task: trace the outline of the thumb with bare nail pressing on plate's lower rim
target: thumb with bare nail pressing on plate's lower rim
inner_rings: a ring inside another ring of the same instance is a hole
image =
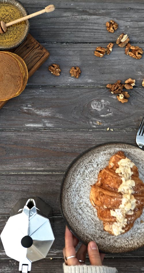
[[[102,266],[101,257],[99,255],[98,247],[95,242],[88,243],[88,256],[90,263],[93,266]]]

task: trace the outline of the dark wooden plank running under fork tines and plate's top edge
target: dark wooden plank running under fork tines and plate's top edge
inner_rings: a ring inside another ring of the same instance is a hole
[[[86,149],[100,143],[135,144],[136,131],[8,130],[1,131],[0,172],[63,172]]]

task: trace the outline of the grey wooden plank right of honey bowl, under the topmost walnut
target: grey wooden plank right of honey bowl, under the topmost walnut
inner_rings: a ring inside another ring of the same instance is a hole
[[[137,9],[137,3],[126,5],[114,2],[107,7],[100,9],[99,4],[94,2],[86,7],[79,2],[78,6],[71,3],[71,8],[67,8],[68,1],[64,1],[65,8],[58,8],[50,14],[44,14],[31,19],[31,34],[41,42],[114,42],[121,33],[127,33],[133,43],[144,41],[143,33],[143,9],[144,3]],[[46,2],[45,2],[46,3]],[[62,3],[62,1],[61,1]],[[34,2],[35,4],[35,2]],[[31,5],[31,4],[29,4]],[[81,7],[80,7],[81,5]],[[121,5],[121,6],[120,6]],[[39,5],[43,8],[44,5]],[[100,5],[101,6],[101,5]],[[27,6],[28,7],[28,6]],[[29,13],[36,12],[40,7],[28,8]],[[118,8],[119,7],[119,8]],[[108,9],[107,9],[108,8]],[[106,29],[106,22],[115,20],[119,28],[115,33],[109,33]]]

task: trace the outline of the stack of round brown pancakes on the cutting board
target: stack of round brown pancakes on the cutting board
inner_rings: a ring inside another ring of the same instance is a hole
[[[0,101],[6,101],[21,94],[28,80],[24,60],[11,52],[0,51]]]

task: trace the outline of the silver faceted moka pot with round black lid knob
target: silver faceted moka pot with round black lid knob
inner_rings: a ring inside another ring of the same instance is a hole
[[[31,263],[43,259],[54,242],[48,219],[52,209],[40,198],[21,199],[10,212],[1,240],[7,256],[19,261],[19,271],[31,271]],[[25,205],[24,205],[25,204]]]

